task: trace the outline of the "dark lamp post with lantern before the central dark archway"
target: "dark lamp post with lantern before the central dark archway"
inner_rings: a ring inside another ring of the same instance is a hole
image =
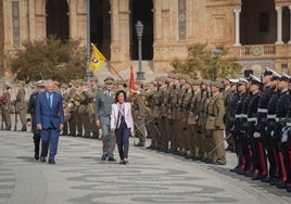
[[[137,80],[144,80],[144,72],[142,72],[142,50],[141,50],[141,39],[142,39],[142,33],[143,33],[143,25],[140,21],[136,24],[136,31],[138,37],[138,72],[137,72]]]

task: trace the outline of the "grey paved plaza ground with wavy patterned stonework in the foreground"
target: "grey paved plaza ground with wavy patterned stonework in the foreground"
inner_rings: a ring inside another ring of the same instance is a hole
[[[34,160],[30,132],[0,131],[0,203],[291,203],[291,193],[230,173],[233,153],[213,166],[132,143],[121,165],[101,160],[101,140],[62,136],[49,165]]]

